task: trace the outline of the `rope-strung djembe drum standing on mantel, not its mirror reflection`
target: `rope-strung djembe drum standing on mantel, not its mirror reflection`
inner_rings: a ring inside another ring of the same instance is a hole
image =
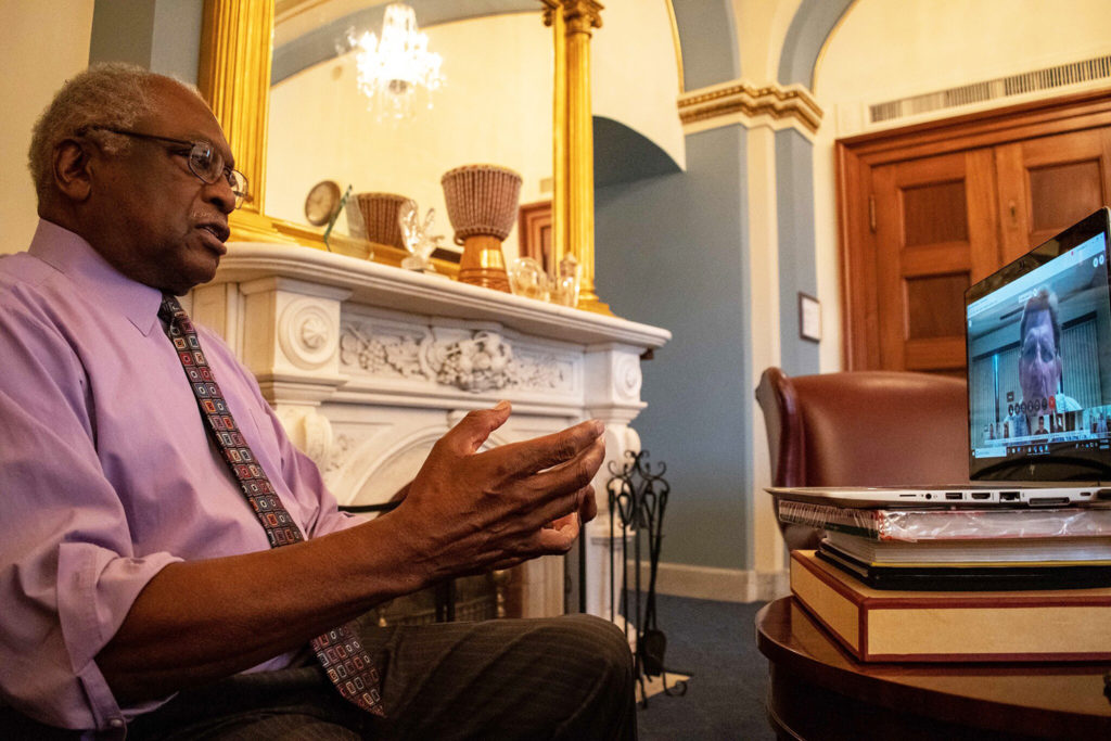
[[[440,179],[456,244],[459,282],[510,292],[501,243],[517,221],[521,176],[497,164],[464,164]]]

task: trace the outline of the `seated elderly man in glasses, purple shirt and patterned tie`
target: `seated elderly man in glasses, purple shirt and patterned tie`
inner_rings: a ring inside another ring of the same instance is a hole
[[[635,737],[602,620],[358,621],[565,552],[595,513],[599,422],[479,453],[510,408],[473,411],[394,511],[340,514],[174,298],[212,278],[247,196],[204,101],[92,68],[30,163],[41,220],[0,260],[0,737]]]

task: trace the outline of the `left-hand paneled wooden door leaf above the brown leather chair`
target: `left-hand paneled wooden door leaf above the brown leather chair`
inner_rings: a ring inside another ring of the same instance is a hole
[[[991,149],[877,167],[880,367],[958,372],[964,290],[999,264]]]

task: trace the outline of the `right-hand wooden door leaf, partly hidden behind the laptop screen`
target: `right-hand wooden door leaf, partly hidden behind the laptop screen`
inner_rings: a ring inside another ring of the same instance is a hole
[[[995,147],[1002,263],[1111,202],[1111,130]]]

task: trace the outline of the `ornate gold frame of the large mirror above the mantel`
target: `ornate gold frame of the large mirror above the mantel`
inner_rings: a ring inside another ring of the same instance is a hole
[[[601,26],[597,0],[538,0],[554,44],[552,246],[580,264],[579,308],[610,313],[594,292],[593,137],[590,38]],[[236,241],[287,242],[326,249],[320,230],[266,212],[266,153],[273,44],[273,0],[206,0],[198,87],[251,183],[252,200],[232,214]],[[336,251],[367,254],[367,244],[337,236]],[[374,260],[400,264],[404,252],[374,246]],[[450,263],[438,266],[452,274]]]

